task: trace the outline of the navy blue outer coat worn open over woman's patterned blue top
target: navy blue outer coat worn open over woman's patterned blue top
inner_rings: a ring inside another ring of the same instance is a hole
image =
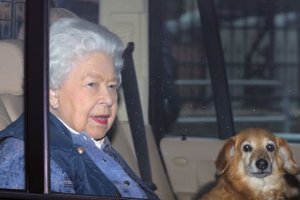
[[[0,141],[14,137],[24,140],[24,116],[10,124],[4,131],[0,132]],[[77,151],[80,146],[73,143],[71,133],[53,114],[49,114],[49,148],[51,160],[70,177],[73,177],[75,194],[86,194],[95,196],[120,196],[120,192],[104,173],[99,169],[94,161],[85,153]],[[131,177],[149,199],[159,199],[158,196],[139,179],[136,174],[126,164],[121,155],[111,146],[104,148],[106,154],[109,154],[126,174]]]

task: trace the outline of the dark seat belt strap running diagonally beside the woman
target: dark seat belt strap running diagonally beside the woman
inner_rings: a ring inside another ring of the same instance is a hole
[[[136,80],[136,71],[134,69],[134,59],[132,56],[133,51],[134,43],[129,42],[123,54],[124,69],[121,72],[122,87],[124,91],[126,111],[129,118],[131,136],[134,141],[134,149],[136,151],[136,159],[138,162],[141,179],[152,190],[156,190],[156,185],[152,182],[151,176],[144,118],[143,112],[141,110],[139,88]]]

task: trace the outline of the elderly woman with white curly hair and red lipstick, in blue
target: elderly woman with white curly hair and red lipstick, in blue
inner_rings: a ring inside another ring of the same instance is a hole
[[[121,40],[79,18],[50,28],[49,144],[51,191],[158,199],[111,147],[121,84]],[[24,189],[21,116],[0,132],[0,188]]]

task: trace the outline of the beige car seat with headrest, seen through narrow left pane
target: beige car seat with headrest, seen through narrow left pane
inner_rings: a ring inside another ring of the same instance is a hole
[[[24,110],[24,41],[0,40],[0,130]]]

